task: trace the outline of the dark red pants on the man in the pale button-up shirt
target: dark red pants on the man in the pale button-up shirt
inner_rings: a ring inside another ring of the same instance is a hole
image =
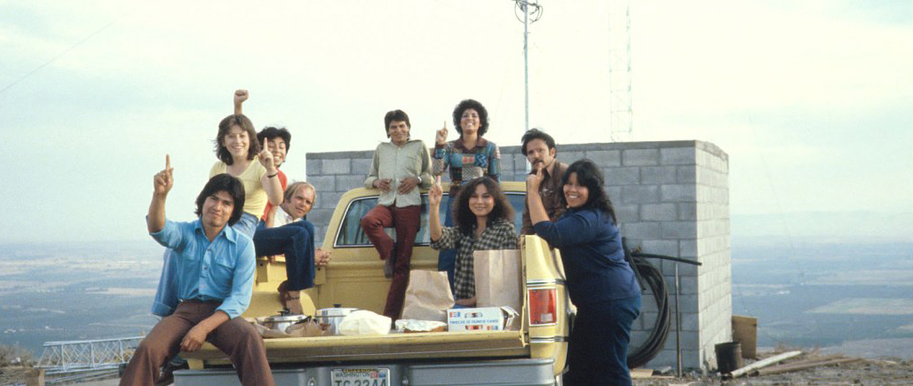
[[[381,260],[394,254],[394,240],[383,232],[383,228],[392,226],[396,230],[396,265],[393,282],[387,292],[387,305],[383,308],[383,316],[394,320],[403,312],[405,287],[409,285],[409,262],[412,260],[412,247],[415,245],[421,214],[422,208],[419,205],[402,208],[377,205],[362,217],[364,233],[377,248]]]

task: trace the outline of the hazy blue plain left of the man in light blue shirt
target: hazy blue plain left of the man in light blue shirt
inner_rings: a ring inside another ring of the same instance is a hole
[[[45,341],[144,335],[162,251],[152,240],[2,245],[0,343],[37,359]]]

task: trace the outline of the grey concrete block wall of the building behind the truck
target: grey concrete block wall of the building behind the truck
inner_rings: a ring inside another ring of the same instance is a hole
[[[524,181],[526,157],[519,146],[501,146],[503,181]],[[362,186],[373,151],[307,154],[308,181],[318,190],[308,218],[322,242],[342,193]],[[589,158],[600,165],[628,247],[696,260],[679,265],[681,348],[688,369],[715,369],[713,346],[731,339],[729,256],[729,156],[702,141],[559,144],[558,159]],[[675,309],[675,264],[651,259],[661,269]],[[656,320],[656,302],[643,298],[632,347],[644,342]],[[675,320],[666,345],[648,367],[676,365]]]

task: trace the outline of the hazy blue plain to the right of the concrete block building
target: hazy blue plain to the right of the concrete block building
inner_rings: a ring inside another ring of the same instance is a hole
[[[733,242],[732,256],[732,313],[758,318],[760,346],[913,338],[913,243]]]

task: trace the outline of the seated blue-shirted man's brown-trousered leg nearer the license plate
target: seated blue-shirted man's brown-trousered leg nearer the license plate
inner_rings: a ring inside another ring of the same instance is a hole
[[[273,385],[267,350],[257,329],[244,318],[233,318],[215,328],[206,340],[225,352],[243,385]]]

